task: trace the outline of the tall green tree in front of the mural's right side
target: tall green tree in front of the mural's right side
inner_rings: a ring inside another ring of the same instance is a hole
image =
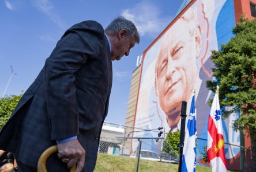
[[[250,134],[253,171],[256,171],[256,19],[249,21],[241,17],[233,32],[235,36],[220,51],[213,51],[216,80],[207,81],[206,85],[212,91],[219,85],[220,105],[232,107],[224,110],[224,117],[239,112],[233,127]]]

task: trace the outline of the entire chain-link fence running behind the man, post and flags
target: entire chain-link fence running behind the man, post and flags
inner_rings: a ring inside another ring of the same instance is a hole
[[[133,137],[157,137],[161,130],[146,130],[143,128],[127,127],[118,124],[105,122],[101,130],[99,153],[119,155],[125,157],[136,158],[139,141],[138,139],[130,139]],[[163,133],[161,138],[166,138],[167,133]],[[122,138],[129,137],[129,138]],[[157,161],[164,163],[179,163],[179,150],[173,148],[168,142],[161,139],[140,139],[141,151],[140,159],[149,161]],[[207,140],[198,138],[197,142],[201,142],[202,147],[197,146],[197,164],[208,166],[209,163],[204,160],[206,157]],[[250,170],[251,166],[251,148],[238,146],[235,144],[225,143],[225,153],[229,169]],[[243,151],[244,154],[241,154]],[[241,157],[242,156],[242,161]],[[150,171],[150,170],[148,170]],[[169,169],[168,171],[174,171]]]

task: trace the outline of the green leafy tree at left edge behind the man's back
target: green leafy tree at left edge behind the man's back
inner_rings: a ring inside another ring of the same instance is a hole
[[[21,99],[21,95],[7,96],[0,99],[0,130],[12,115],[14,108],[16,107],[18,101]]]

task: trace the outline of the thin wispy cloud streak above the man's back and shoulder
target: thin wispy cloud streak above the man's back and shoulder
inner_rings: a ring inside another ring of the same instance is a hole
[[[48,0],[32,0],[33,6],[35,6],[39,11],[48,15],[56,24],[59,25],[61,29],[66,29],[65,22],[57,14],[54,13],[54,6]]]

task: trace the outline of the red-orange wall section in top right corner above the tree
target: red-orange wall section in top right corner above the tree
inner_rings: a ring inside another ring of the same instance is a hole
[[[236,23],[239,22],[240,16],[242,14],[244,14],[246,18],[254,18],[251,16],[250,2],[256,4],[256,0],[234,0]]]

